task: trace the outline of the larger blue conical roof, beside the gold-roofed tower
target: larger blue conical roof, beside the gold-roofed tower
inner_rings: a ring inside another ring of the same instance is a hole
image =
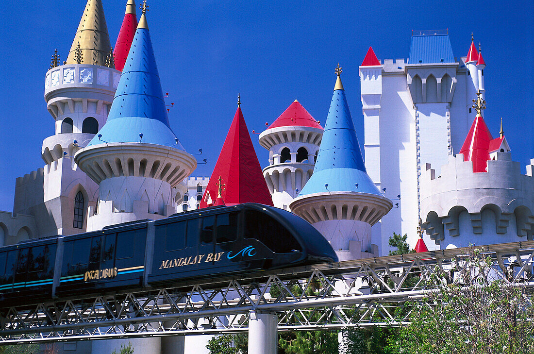
[[[183,150],[179,143],[176,144],[176,136],[169,127],[158,67],[144,17],[143,14],[133,37],[107,122],[89,146],[142,142]],[[143,134],[142,139],[140,133]],[[100,139],[98,135],[101,135]]]

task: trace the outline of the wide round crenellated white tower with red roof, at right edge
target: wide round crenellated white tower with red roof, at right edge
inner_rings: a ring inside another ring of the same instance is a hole
[[[532,240],[534,233],[534,159],[522,175],[502,125],[492,138],[481,92],[477,96],[462,151],[449,156],[438,178],[430,164],[422,176],[422,228],[440,249]]]

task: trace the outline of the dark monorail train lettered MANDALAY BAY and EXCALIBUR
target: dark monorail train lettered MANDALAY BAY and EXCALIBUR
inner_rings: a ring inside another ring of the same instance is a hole
[[[0,248],[0,308],[186,279],[337,262],[313,226],[245,203]]]

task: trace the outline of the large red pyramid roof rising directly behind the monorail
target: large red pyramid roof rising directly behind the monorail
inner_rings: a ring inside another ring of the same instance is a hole
[[[225,184],[221,194],[226,205],[254,202],[273,206],[269,188],[265,183],[247,124],[239,107],[202,196],[200,208],[208,206],[208,193],[218,194],[219,176]]]

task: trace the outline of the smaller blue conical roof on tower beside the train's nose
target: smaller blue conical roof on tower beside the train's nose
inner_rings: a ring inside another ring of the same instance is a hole
[[[328,184],[328,187],[325,187]],[[356,187],[356,184],[358,186]],[[338,76],[313,174],[301,195],[324,192],[381,194],[367,176],[362,151]]]

